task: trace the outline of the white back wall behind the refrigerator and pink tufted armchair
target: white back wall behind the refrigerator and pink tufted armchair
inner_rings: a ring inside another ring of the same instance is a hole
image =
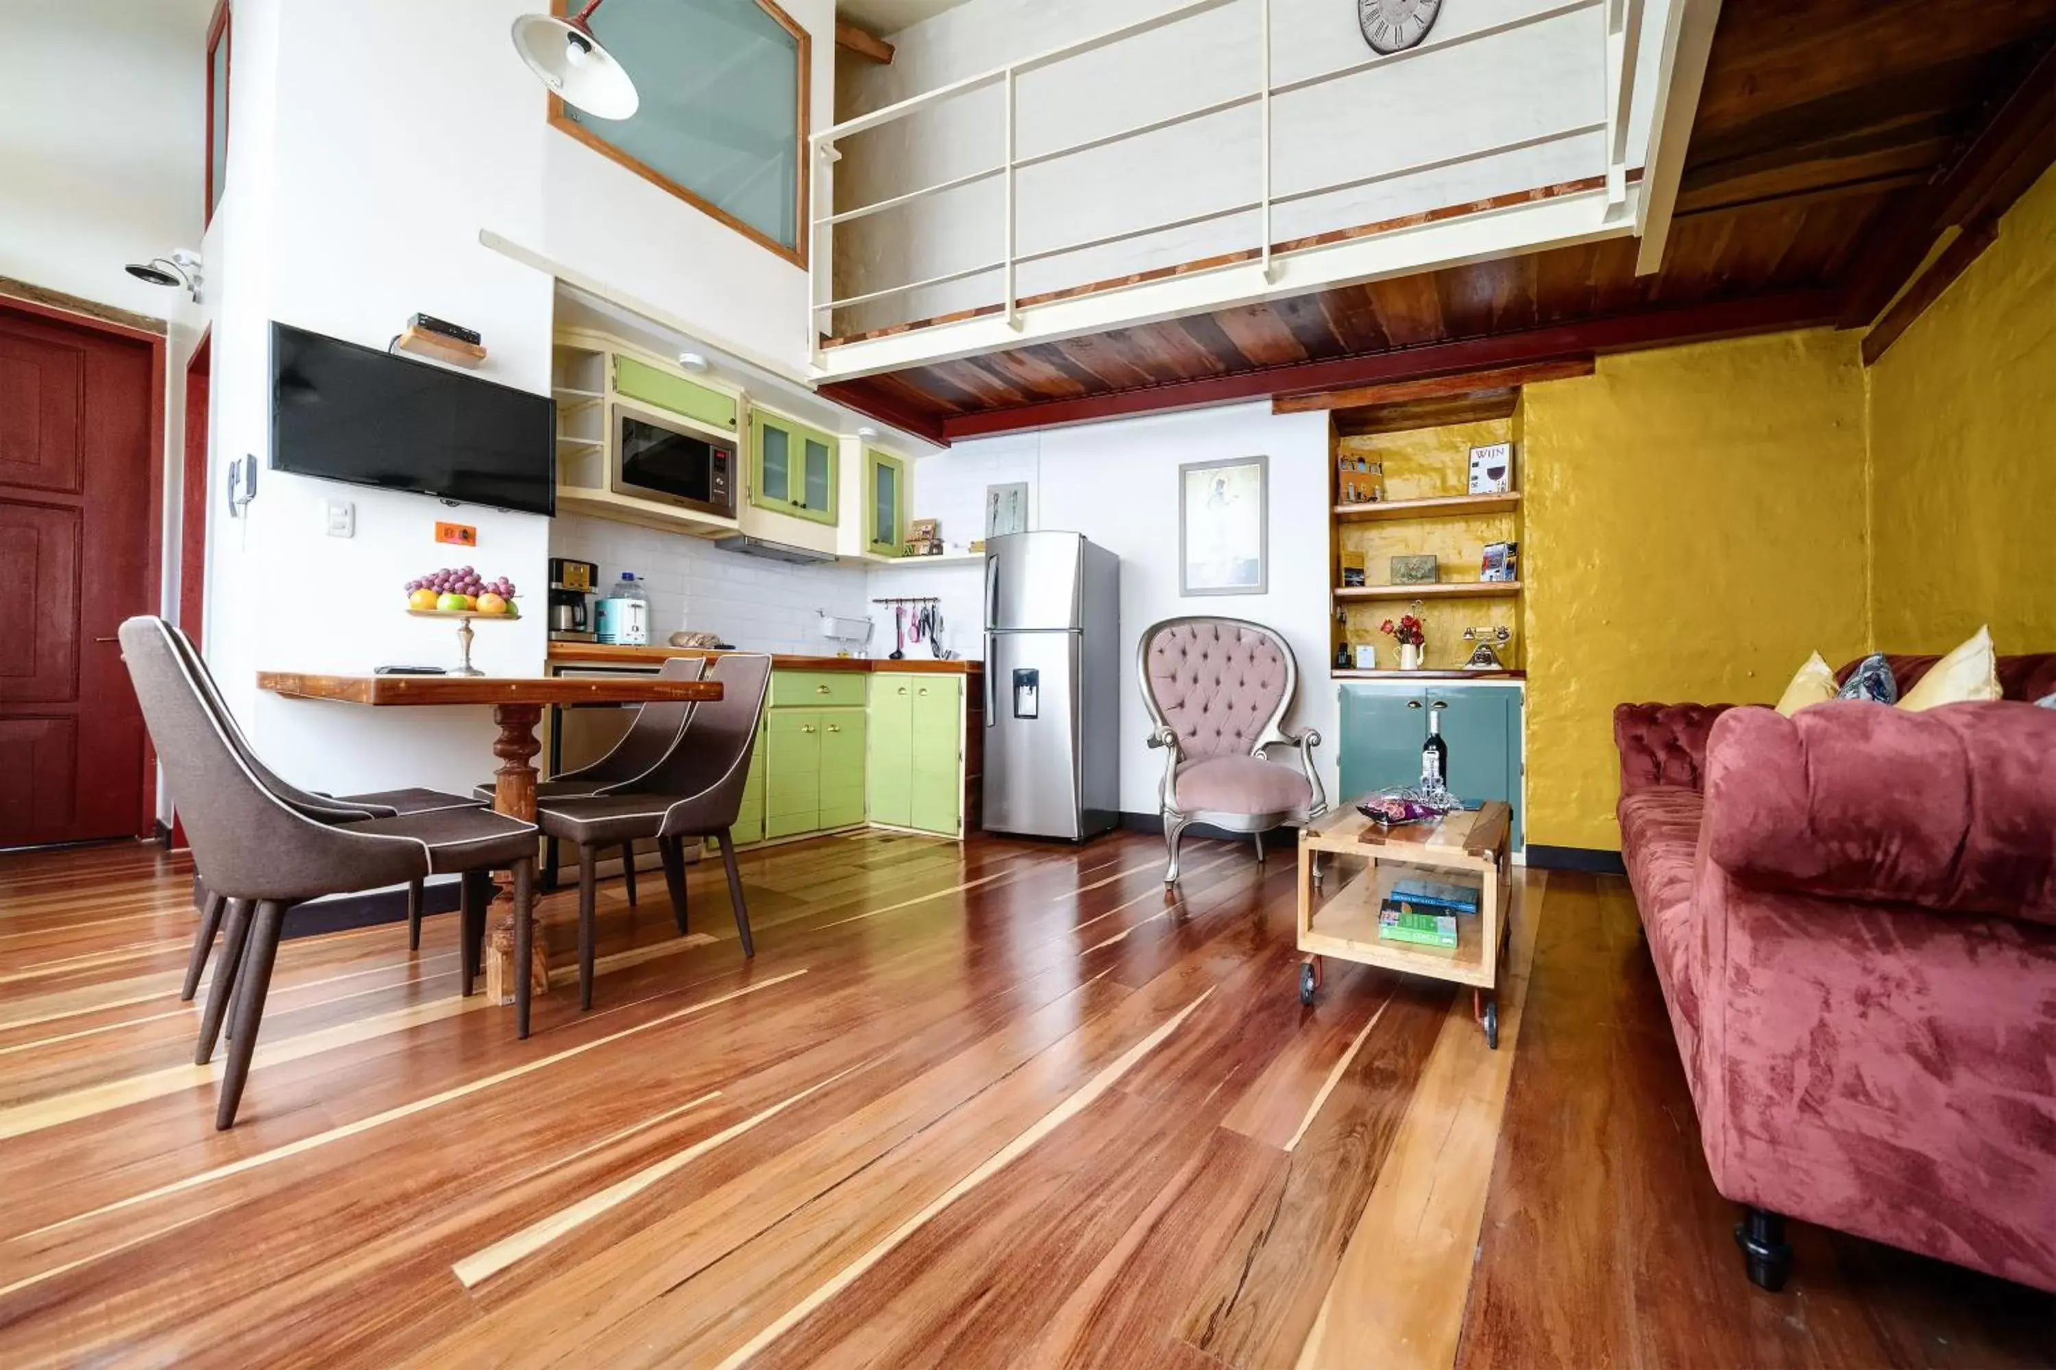
[[[1178,466],[1238,456],[1271,458],[1269,589],[1180,596]],[[1121,807],[1155,811],[1164,758],[1143,744],[1149,715],[1133,661],[1143,629],[1178,614],[1252,618],[1285,635],[1299,659],[1287,723],[1326,737],[1316,758],[1332,797],[1341,733],[1328,682],[1328,417],[1273,415],[1262,403],[966,442],[917,462],[915,516],[940,518],[946,540],[983,536],[985,487],[1022,479],[1034,483],[1034,528],[1081,532],[1121,557]],[[870,592],[940,596],[952,624],[946,645],[983,655],[979,567],[880,569]],[[890,618],[878,641],[874,655],[890,651]]]

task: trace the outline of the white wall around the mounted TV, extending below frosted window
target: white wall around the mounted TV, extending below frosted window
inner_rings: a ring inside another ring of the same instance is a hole
[[[236,0],[230,173],[208,232],[218,290],[204,310],[216,483],[234,456],[269,460],[273,318],[374,347],[415,310],[454,318],[485,339],[481,376],[545,392],[553,281],[485,249],[487,228],[709,333],[794,366],[806,357],[804,271],[545,123],[543,88],[508,43],[508,25],[533,8]],[[816,35],[814,109],[827,119],[833,0],[785,8]],[[329,499],[356,505],[354,538],[325,536]],[[477,550],[436,544],[438,518],[477,526]],[[477,629],[477,665],[539,672],[549,540],[539,516],[263,470],[249,518],[216,522],[208,657],[290,778],[469,789],[493,764],[487,711],[282,700],[255,690],[255,672],[454,663],[448,624],[401,612],[407,579],[454,563],[524,592],[520,622]]]

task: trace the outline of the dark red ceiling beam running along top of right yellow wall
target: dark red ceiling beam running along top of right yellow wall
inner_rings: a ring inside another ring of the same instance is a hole
[[[1998,220],[2056,162],[2056,43],[1986,119],[1963,154],[1896,222],[1879,224],[1848,275],[1840,325],[1877,318],[1949,228]]]

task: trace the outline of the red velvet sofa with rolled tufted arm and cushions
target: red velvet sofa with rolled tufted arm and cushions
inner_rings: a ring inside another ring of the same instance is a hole
[[[2000,686],[1614,711],[1622,859],[1764,1288],[1793,1216],[2056,1290],[2056,709],[2011,702],[2056,653]]]

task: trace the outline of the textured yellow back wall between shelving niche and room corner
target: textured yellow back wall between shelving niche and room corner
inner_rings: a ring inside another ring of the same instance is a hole
[[[1857,335],[1600,357],[1519,419],[1528,840],[1618,848],[1616,702],[1774,702],[1865,647]]]

